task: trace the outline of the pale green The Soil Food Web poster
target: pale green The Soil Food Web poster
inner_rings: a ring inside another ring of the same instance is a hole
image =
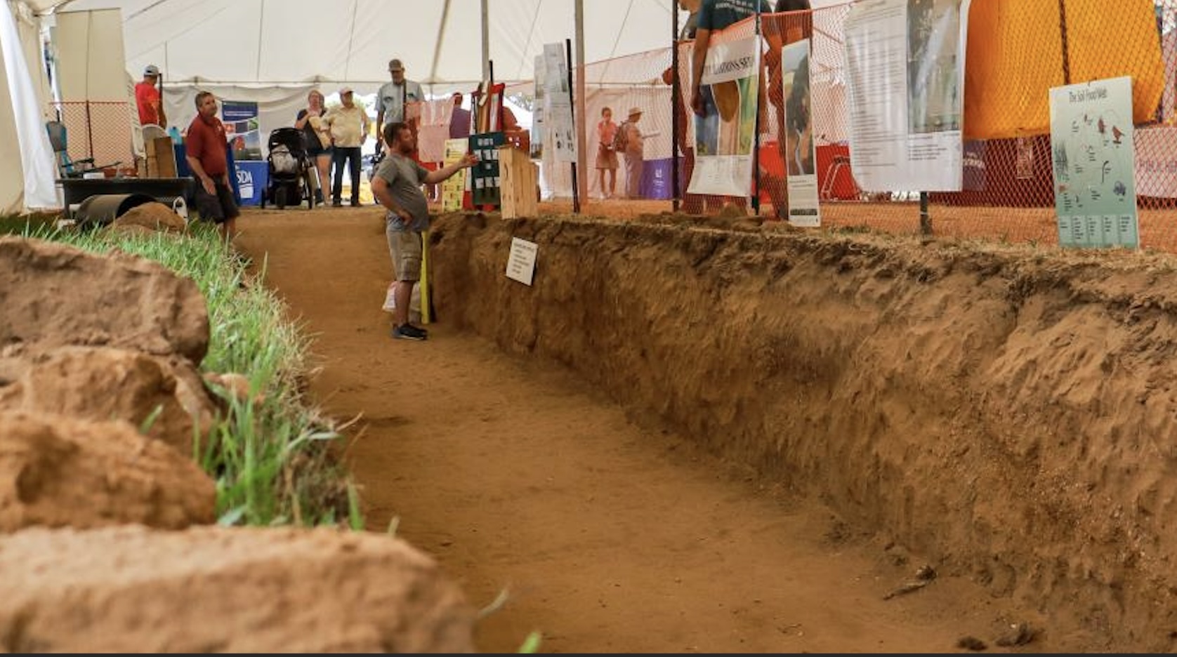
[[[1131,78],[1050,89],[1060,246],[1141,246],[1132,138]]]

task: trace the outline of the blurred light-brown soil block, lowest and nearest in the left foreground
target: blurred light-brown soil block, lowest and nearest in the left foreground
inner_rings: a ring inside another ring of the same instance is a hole
[[[11,652],[471,652],[474,611],[387,536],[193,527],[0,538]]]

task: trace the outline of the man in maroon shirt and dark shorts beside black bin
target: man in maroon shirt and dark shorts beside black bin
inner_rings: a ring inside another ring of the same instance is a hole
[[[199,182],[197,212],[201,219],[217,223],[221,239],[228,241],[237,234],[237,218],[241,211],[233,200],[225,126],[217,118],[217,97],[211,92],[197,94],[197,118],[188,126],[184,145],[188,166]]]

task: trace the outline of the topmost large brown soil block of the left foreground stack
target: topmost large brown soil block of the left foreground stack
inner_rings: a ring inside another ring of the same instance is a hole
[[[208,351],[197,285],[134,256],[0,237],[0,347],[117,346],[194,364]]]

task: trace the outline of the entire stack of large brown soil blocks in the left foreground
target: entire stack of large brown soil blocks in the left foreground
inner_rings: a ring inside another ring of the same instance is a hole
[[[0,651],[471,650],[460,592],[400,542],[141,526],[217,518],[192,460],[219,409],[191,279],[0,238]]]

